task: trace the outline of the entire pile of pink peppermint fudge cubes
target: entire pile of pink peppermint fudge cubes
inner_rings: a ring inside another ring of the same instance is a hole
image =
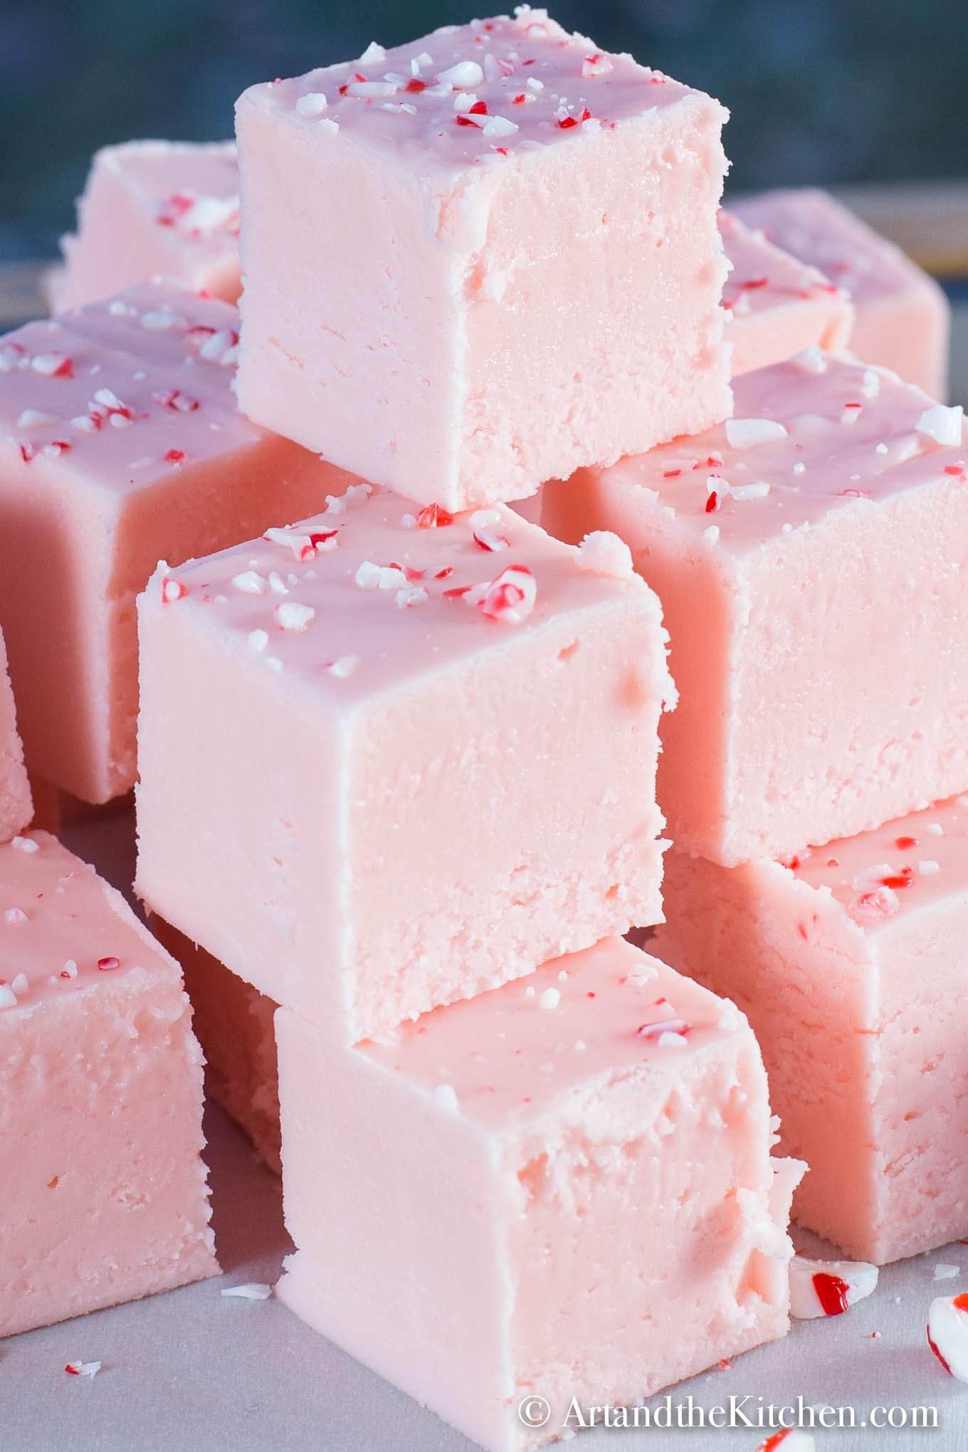
[[[726,119],[522,7],[96,158],[0,340],[0,621],[155,937],[15,836],[7,693],[0,1333],[216,1269],[176,960],[279,1297],[486,1448],[782,1336],[794,1192],[968,1233],[946,312],[823,195],[720,211]]]

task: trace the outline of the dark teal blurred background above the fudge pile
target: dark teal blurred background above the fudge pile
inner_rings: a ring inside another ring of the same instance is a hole
[[[0,261],[54,254],[97,147],[225,138],[253,81],[479,13],[467,0],[0,0]],[[968,171],[968,0],[560,0],[551,13],[718,96],[737,189]]]

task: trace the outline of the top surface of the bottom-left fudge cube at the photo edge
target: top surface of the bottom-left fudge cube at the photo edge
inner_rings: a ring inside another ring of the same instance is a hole
[[[0,1018],[181,970],[120,893],[48,832],[0,847]]]

